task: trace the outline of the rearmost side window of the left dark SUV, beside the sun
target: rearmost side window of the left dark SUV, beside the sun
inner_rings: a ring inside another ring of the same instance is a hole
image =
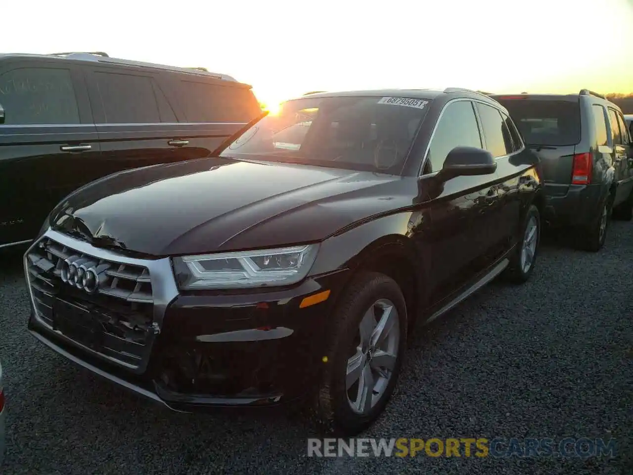
[[[189,122],[250,122],[261,113],[246,87],[183,80],[180,99]]]

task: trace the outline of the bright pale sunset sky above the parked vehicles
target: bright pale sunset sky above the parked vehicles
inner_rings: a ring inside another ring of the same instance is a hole
[[[35,0],[1,10],[4,53],[204,66],[268,104],[382,87],[633,92],[633,0]]]

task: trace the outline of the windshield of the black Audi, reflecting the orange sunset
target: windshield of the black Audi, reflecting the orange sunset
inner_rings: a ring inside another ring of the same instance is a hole
[[[398,174],[427,104],[406,98],[296,99],[221,155]]]

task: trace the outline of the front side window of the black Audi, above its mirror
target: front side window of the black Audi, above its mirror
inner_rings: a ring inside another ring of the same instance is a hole
[[[481,137],[472,102],[456,101],[446,106],[432,138],[424,173],[439,172],[455,147],[481,148]]]

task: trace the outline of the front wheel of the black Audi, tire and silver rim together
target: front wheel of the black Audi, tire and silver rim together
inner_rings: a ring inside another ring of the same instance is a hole
[[[393,279],[366,272],[332,318],[318,409],[329,431],[351,436],[377,419],[393,393],[406,346],[406,303]]]

